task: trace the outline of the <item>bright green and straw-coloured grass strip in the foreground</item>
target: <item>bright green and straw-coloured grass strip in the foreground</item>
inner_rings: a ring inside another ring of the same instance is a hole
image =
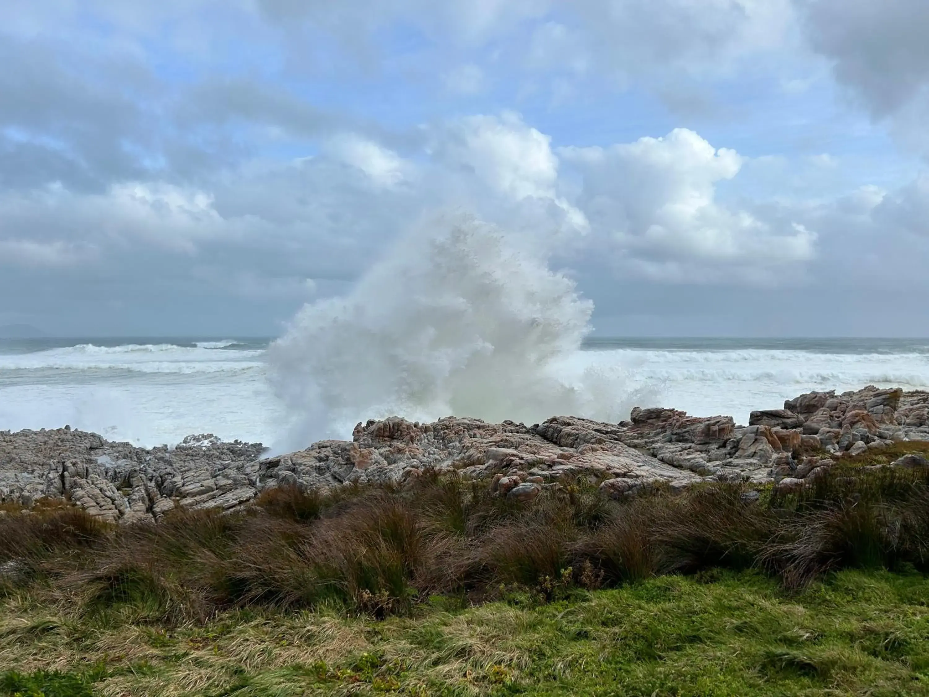
[[[383,621],[319,608],[112,625],[52,610],[6,599],[0,693],[929,694],[929,580],[917,572],[837,572],[788,594],[757,572],[713,570],[553,602],[432,598]]]

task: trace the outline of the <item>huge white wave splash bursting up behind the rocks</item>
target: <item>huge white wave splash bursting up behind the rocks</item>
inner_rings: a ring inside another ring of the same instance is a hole
[[[623,418],[622,376],[572,365],[593,309],[543,250],[441,217],[393,243],[347,296],[307,304],[270,346],[268,377],[294,414],[288,444],[391,414]]]

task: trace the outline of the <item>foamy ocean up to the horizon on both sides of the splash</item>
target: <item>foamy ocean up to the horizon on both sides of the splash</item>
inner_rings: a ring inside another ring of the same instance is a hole
[[[0,339],[0,429],[68,424],[143,446],[213,433],[273,446],[291,414],[268,382],[269,342]],[[641,406],[729,414],[739,423],[752,409],[779,408],[812,389],[929,388],[929,339],[596,337],[562,362],[577,373],[622,373]],[[350,424],[342,428],[350,437]]]

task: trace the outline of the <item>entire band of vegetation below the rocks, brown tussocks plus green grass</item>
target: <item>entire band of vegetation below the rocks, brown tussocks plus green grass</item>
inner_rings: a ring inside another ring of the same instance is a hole
[[[0,516],[0,694],[929,695],[929,471]]]

